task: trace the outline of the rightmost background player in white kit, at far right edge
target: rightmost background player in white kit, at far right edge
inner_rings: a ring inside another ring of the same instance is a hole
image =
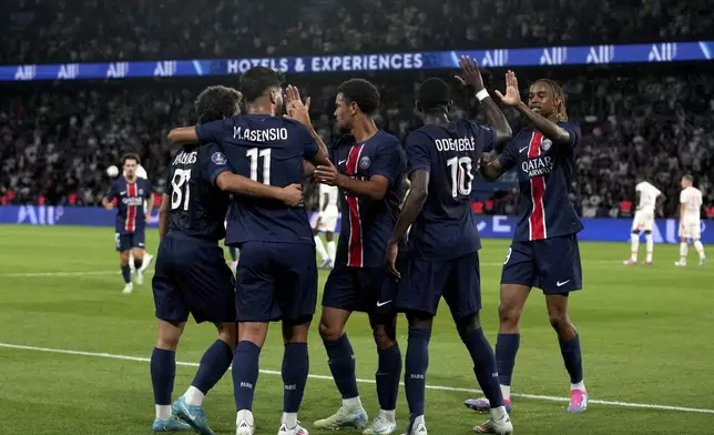
[[[686,266],[686,254],[688,251],[687,241],[692,240],[694,249],[700,254],[700,265],[704,265],[704,245],[702,237],[702,191],[694,188],[694,178],[684,175],[682,178],[682,193],[680,193],[680,261],[676,266]]]

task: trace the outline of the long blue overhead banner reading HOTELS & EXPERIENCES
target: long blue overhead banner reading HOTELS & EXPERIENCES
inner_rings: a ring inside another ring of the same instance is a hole
[[[0,81],[241,74],[262,65],[289,73],[456,69],[468,54],[486,68],[708,61],[714,41],[286,58],[153,60],[0,67]]]

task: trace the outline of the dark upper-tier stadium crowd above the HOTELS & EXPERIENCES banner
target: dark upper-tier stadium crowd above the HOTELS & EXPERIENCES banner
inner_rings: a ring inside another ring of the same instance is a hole
[[[710,10],[707,0],[21,0],[3,4],[0,63],[697,40],[711,36]]]

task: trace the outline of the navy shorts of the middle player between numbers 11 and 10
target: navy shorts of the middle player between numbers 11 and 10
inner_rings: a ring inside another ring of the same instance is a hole
[[[386,267],[337,264],[325,283],[323,306],[367,314],[395,313],[397,286],[397,279]]]

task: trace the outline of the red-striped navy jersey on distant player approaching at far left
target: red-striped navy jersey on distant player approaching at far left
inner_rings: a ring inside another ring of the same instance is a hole
[[[146,226],[144,200],[151,196],[151,183],[145,179],[136,179],[133,183],[120,176],[112,183],[106,199],[116,199],[116,233],[125,234],[142,232]]]

